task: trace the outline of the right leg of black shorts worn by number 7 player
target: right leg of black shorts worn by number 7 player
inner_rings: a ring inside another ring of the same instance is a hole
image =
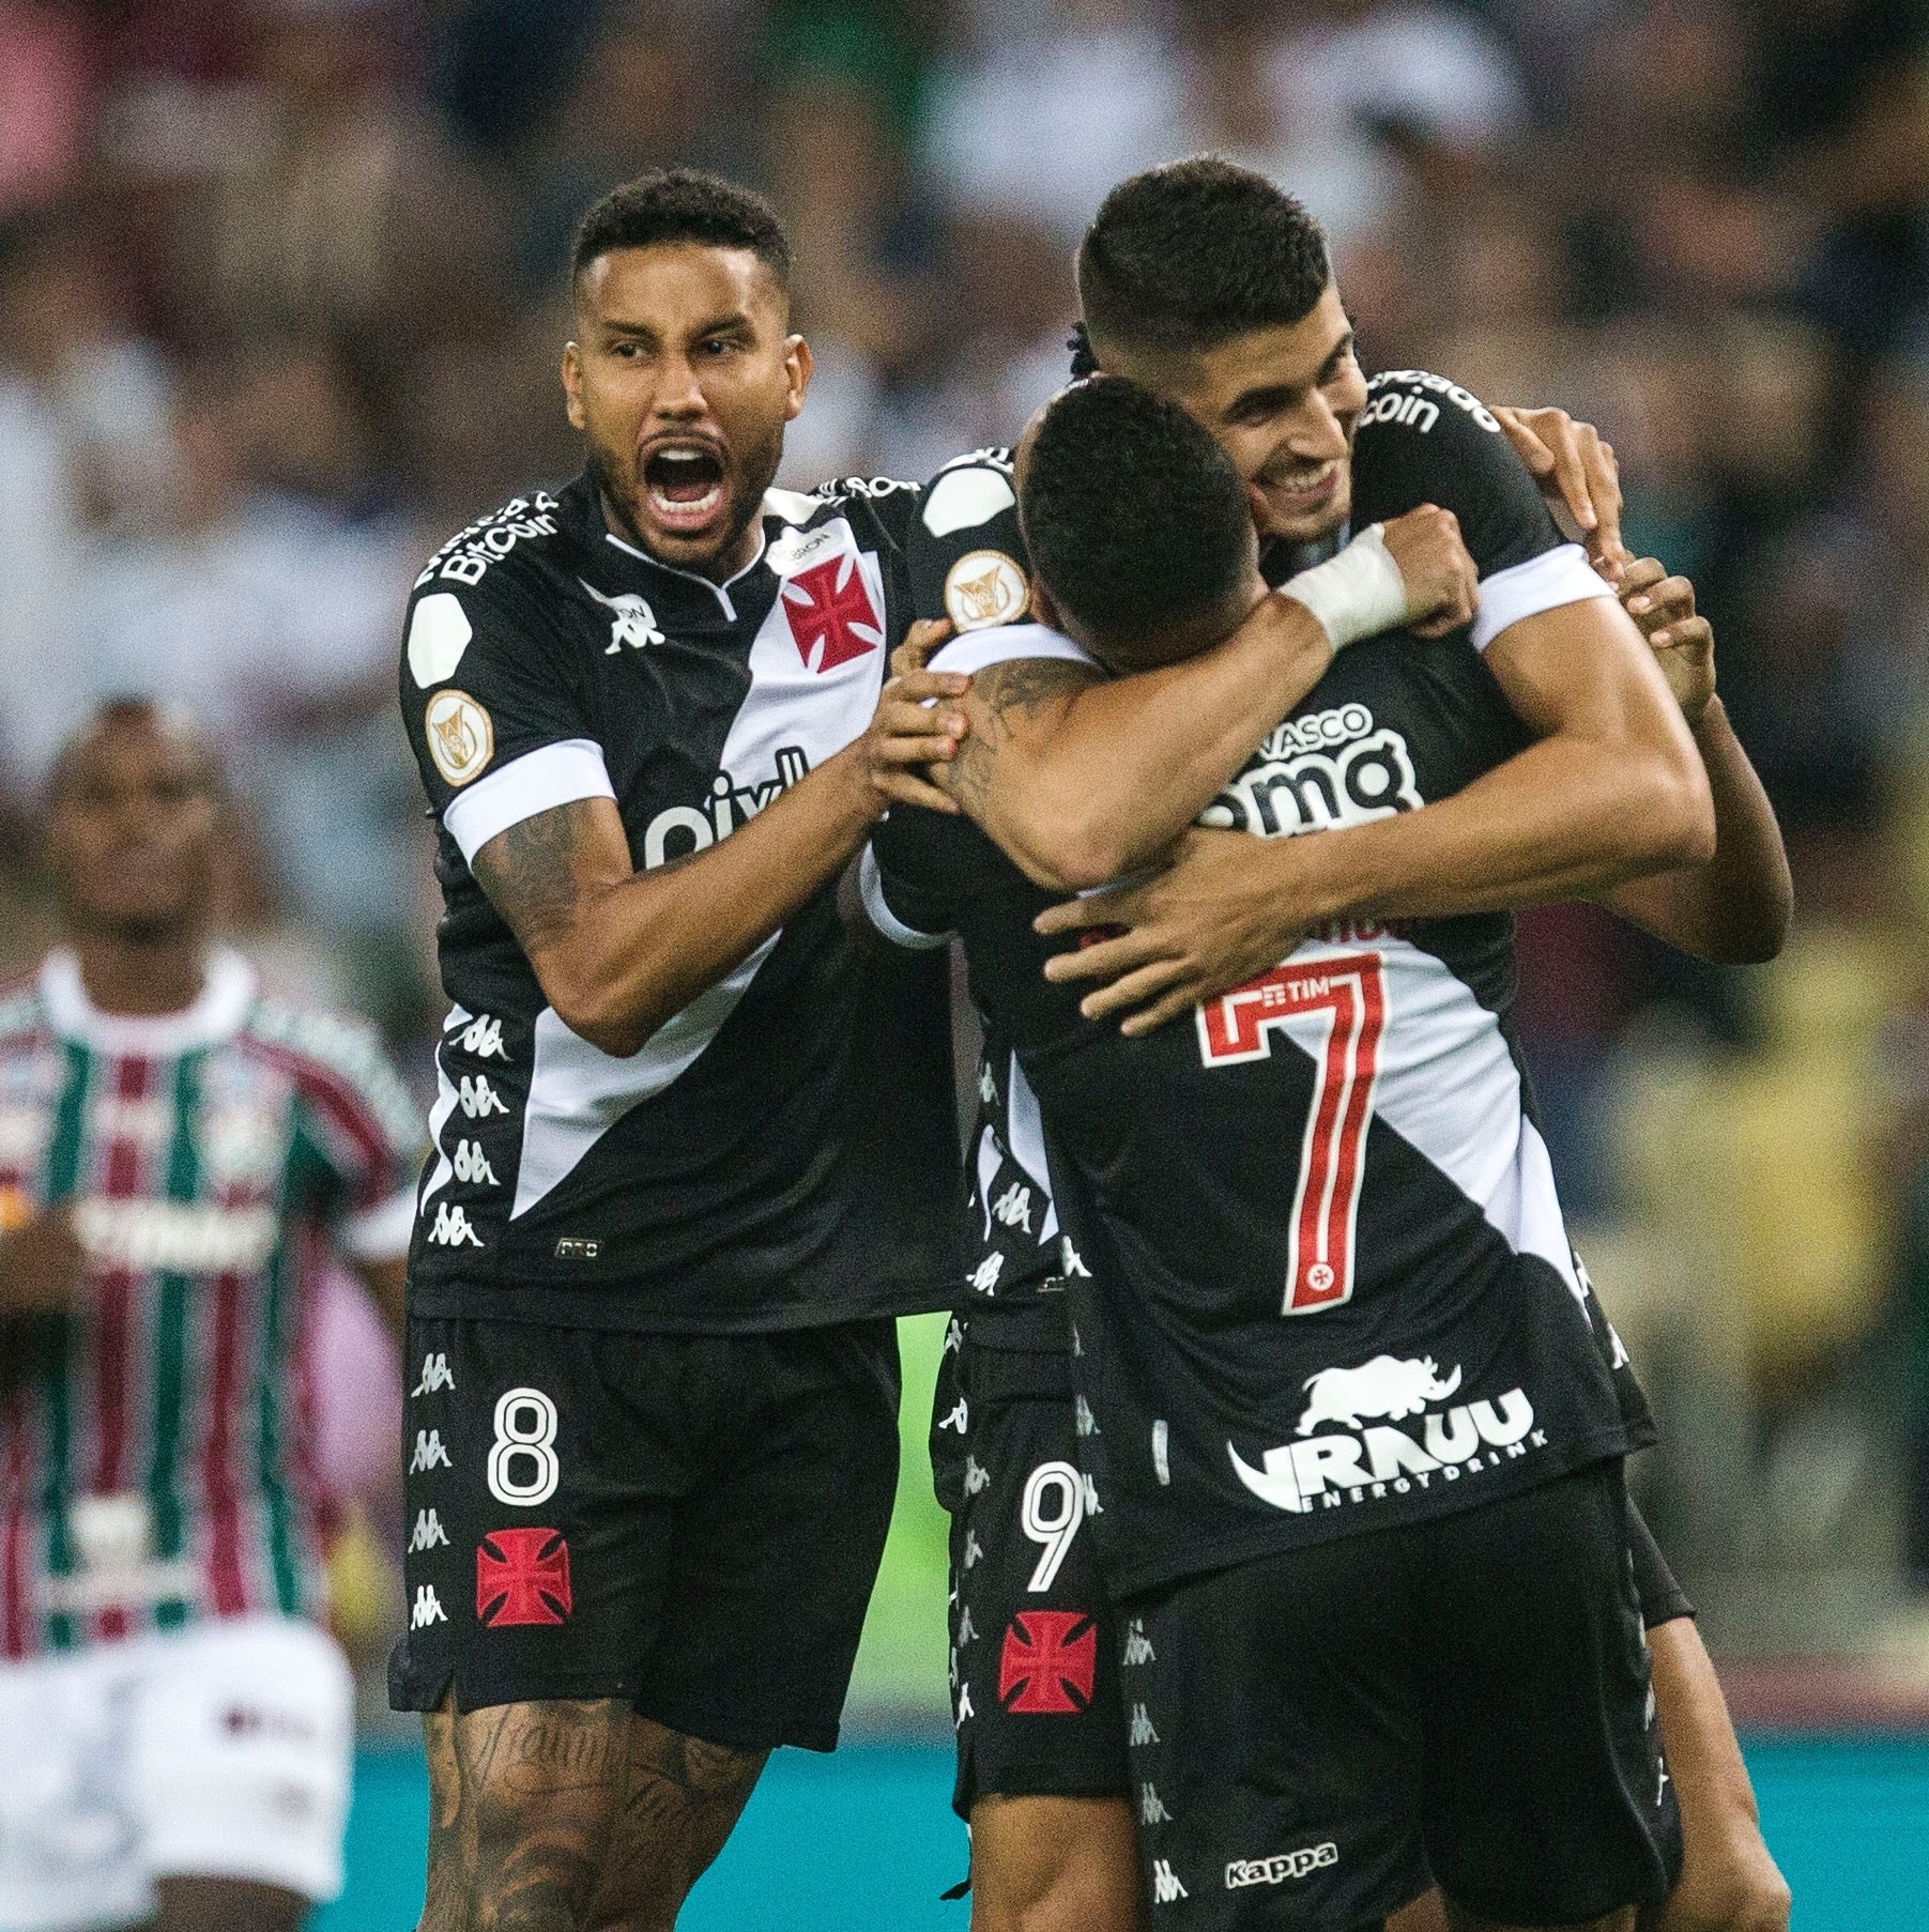
[[[1618,1461],[1423,1524],[1426,1851],[1494,1924],[1660,1899],[1678,1857]]]

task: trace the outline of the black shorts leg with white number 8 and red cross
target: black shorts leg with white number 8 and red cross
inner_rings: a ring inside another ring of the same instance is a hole
[[[704,1366],[700,1337],[410,1321],[396,1710],[636,1694]]]

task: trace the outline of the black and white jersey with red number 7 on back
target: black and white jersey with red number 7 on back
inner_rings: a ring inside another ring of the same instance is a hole
[[[1457,514],[1479,616],[1341,651],[1208,825],[1291,837],[1461,790],[1527,744],[1484,647],[1608,595],[1465,390],[1376,379],[1353,468],[1359,522]],[[1079,653],[1021,624],[937,663],[1040,655]],[[1506,914],[1324,931],[1127,1039],[1044,980],[1050,895],[974,825],[893,811],[874,854],[903,925],[963,935],[1040,1103],[1117,1590],[1469,1507],[1645,1435],[1533,1122]]]

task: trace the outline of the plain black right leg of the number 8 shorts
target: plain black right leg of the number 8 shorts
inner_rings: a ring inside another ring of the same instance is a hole
[[[897,1325],[727,1350],[636,1712],[736,1750],[829,1750],[897,1499]]]

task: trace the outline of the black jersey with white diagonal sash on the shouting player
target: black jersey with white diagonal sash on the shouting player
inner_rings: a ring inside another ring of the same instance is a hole
[[[918,493],[771,491],[727,583],[578,479],[416,583],[402,715],[441,829],[452,1010],[412,1293],[425,1316],[767,1329],[943,1306],[957,1184],[939,956],[856,947],[833,885],[628,1059],[572,1034],[470,869],[613,798],[638,869],[704,852],[862,734],[908,624]]]

